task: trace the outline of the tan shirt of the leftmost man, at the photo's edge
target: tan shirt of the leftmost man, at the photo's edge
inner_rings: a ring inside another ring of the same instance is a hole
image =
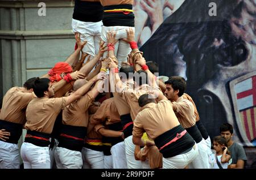
[[[0,119],[24,125],[27,105],[35,97],[34,93],[23,92],[20,87],[9,89],[3,97]]]

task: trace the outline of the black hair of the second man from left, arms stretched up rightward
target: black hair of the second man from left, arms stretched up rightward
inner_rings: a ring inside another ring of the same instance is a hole
[[[50,80],[48,78],[36,78],[33,89],[37,97],[44,97],[44,91],[48,91]]]

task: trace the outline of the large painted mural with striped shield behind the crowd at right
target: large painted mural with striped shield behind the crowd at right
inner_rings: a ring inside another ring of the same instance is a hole
[[[256,1],[134,1],[145,59],[159,75],[183,76],[209,135],[232,124],[255,166]]]

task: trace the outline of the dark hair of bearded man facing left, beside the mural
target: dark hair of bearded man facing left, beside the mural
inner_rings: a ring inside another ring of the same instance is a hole
[[[180,76],[171,76],[164,84],[171,84],[175,91],[179,89],[179,97],[183,95],[186,89],[185,79]]]

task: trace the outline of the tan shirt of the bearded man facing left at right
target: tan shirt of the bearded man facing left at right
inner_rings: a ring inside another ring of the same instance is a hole
[[[196,124],[195,110],[193,104],[189,100],[181,96],[177,101],[171,102],[171,104],[181,126],[189,128]]]

